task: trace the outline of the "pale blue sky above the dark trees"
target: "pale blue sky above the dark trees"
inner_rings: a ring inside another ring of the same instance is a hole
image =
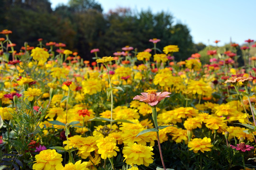
[[[52,8],[69,0],[49,0]],[[219,45],[230,42],[244,43],[248,38],[256,41],[256,0],[95,0],[103,13],[117,7],[129,7],[153,13],[165,11],[174,16],[174,23],[188,26],[193,42]],[[157,38],[157,37],[152,37]]]

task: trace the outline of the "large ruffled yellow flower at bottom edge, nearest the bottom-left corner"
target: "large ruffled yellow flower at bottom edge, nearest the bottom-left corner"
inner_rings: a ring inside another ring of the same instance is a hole
[[[62,155],[57,153],[55,149],[47,149],[41,151],[35,156],[36,162],[33,170],[55,170],[55,166],[61,164]]]

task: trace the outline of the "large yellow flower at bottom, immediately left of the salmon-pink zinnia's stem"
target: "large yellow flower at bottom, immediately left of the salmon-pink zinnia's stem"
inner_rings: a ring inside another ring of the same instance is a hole
[[[128,146],[123,147],[124,161],[128,165],[145,165],[149,166],[153,163],[154,153],[152,146],[145,146],[141,144],[128,144]]]

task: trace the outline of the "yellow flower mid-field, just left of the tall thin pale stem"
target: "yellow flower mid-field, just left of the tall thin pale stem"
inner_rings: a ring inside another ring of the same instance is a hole
[[[85,94],[96,94],[101,92],[102,81],[96,78],[89,78],[82,81],[82,91]]]

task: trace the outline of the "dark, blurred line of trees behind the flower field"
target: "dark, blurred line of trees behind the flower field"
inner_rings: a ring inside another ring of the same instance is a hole
[[[158,38],[157,48],[178,45],[176,60],[184,60],[198,52],[203,44],[194,44],[186,25],[174,24],[170,13],[154,14],[150,10],[133,12],[116,8],[102,13],[95,0],[69,0],[54,10],[48,0],[0,0],[0,30],[13,31],[10,39],[19,51],[24,42],[37,46],[38,38],[46,42],[63,42],[66,49],[91,60],[91,49],[100,49],[99,56],[112,56],[124,46],[137,51],[153,48],[149,39]],[[1,36],[1,35],[0,35]],[[204,46],[204,45],[203,45]]]

